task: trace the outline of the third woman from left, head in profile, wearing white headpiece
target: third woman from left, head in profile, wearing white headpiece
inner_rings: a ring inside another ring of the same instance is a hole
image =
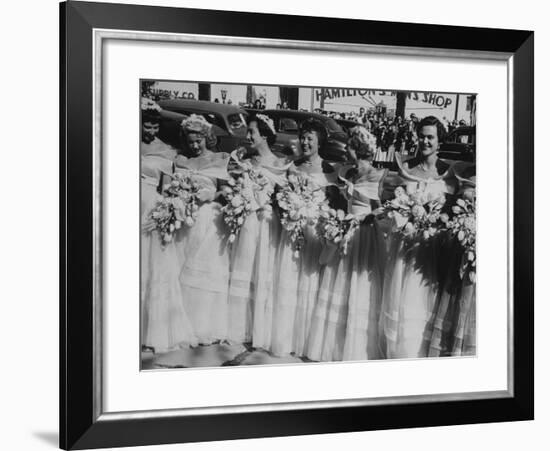
[[[273,322],[273,267],[281,233],[272,197],[275,188],[285,183],[290,163],[271,151],[276,134],[268,116],[252,116],[246,137],[248,152],[235,151],[232,158],[235,175],[246,175],[253,212],[232,249],[229,339],[267,349]]]

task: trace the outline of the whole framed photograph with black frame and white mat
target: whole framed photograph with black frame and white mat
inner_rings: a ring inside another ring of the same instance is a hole
[[[532,32],[60,13],[63,449],[533,419]]]

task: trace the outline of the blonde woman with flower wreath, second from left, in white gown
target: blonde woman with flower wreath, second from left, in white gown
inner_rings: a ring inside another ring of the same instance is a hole
[[[227,338],[229,252],[225,225],[216,201],[218,182],[227,180],[229,154],[215,153],[212,126],[192,114],[181,123],[185,155],[175,160],[175,171],[193,177],[199,185],[195,224],[180,229],[182,300],[201,344]]]

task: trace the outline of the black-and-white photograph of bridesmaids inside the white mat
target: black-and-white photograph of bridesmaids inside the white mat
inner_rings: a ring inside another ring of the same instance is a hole
[[[476,99],[140,80],[141,369],[475,357]]]

